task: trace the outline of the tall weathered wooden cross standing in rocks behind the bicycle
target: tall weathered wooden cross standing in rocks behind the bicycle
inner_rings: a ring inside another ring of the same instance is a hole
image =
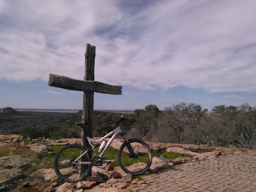
[[[68,90],[83,91],[83,114],[82,123],[87,124],[88,137],[92,138],[92,119],[93,119],[93,95],[94,92],[106,93],[112,95],[122,95],[122,86],[113,86],[109,84],[100,83],[94,81],[94,62],[95,62],[95,50],[96,47],[90,44],[86,44],[85,56],[85,69],[84,69],[84,81],[76,80],[65,76],[50,74],[49,86],[59,87]],[[86,137],[84,137],[84,131],[81,133],[82,146],[89,148]],[[92,153],[89,154],[92,158]],[[81,170],[83,171],[83,170]],[[89,172],[90,176],[92,169]]]

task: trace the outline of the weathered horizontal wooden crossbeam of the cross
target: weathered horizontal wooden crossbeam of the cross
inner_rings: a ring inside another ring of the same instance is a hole
[[[91,80],[77,80],[52,73],[49,76],[49,86],[75,91],[93,91],[111,95],[122,94],[122,86],[114,86]]]

